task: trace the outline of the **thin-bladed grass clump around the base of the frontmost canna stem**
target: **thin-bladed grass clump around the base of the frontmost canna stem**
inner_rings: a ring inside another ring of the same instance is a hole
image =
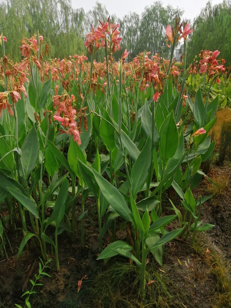
[[[117,261],[105,269],[99,267],[90,284],[89,288],[86,285],[79,294],[80,298],[85,298],[81,307],[89,307],[91,303],[95,308],[170,308],[180,294],[180,289],[176,292],[177,286],[174,286],[167,274],[160,272],[152,262],[146,266],[143,301],[140,301],[138,295],[139,278],[133,264]]]

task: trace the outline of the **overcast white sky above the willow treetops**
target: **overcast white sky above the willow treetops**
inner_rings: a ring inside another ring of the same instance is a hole
[[[75,9],[82,7],[85,12],[91,10],[95,6],[95,0],[72,0],[72,5]],[[129,12],[136,12],[141,14],[146,5],[151,5],[154,0],[99,0],[100,3],[105,4],[109,14],[116,14],[118,17],[123,17]],[[162,0],[164,6],[171,4],[173,7],[180,7],[184,10],[184,18],[193,20],[200,14],[200,10],[205,7],[208,0]],[[221,3],[222,0],[212,0],[212,4]]]

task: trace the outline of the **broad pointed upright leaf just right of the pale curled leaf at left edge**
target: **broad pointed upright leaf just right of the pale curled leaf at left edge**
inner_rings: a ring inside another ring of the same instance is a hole
[[[28,178],[39,160],[39,137],[33,125],[22,144],[22,166]]]

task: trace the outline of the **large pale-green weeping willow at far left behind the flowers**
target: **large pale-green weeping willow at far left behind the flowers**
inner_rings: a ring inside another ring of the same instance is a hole
[[[84,11],[73,10],[71,0],[7,0],[0,3],[0,32],[7,37],[6,53],[15,61],[20,56],[22,36],[35,31],[50,45],[51,57],[84,51]]]

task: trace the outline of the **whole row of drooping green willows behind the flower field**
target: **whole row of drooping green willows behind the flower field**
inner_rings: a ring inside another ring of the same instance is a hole
[[[0,34],[7,38],[6,54],[14,61],[21,60],[20,39],[30,37],[39,31],[44,42],[49,44],[50,58],[64,58],[74,54],[86,54],[85,34],[90,24],[95,27],[98,20],[106,21],[109,14],[111,21],[118,21],[122,36],[121,50],[115,53],[118,60],[124,49],[129,51],[131,61],[139,52],[147,50],[169,57],[166,46],[165,29],[172,24],[176,16],[182,17],[183,11],[172,6],[164,7],[160,1],[146,6],[141,15],[132,12],[119,19],[108,12],[106,6],[96,2],[88,12],[83,8],[74,10],[71,0],[0,0]],[[188,63],[193,62],[201,49],[221,51],[226,64],[231,64],[231,1],[212,5],[208,2],[194,19],[193,34],[189,36]],[[96,61],[104,61],[104,52],[100,50]]]

